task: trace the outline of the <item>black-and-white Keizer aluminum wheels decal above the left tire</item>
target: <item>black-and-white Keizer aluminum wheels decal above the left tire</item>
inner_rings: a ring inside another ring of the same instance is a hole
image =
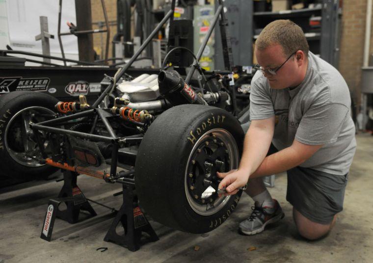
[[[16,90],[46,91],[50,82],[49,78],[0,78],[0,95]]]

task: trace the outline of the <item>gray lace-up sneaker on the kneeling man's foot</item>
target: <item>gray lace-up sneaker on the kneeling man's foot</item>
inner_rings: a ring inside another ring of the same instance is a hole
[[[255,235],[261,233],[266,225],[278,222],[284,218],[285,214],[282,211],[277,200],[273,199],[275,205],[273,208],[263,207],[259,202],[255,202],[251,209],[253,212],[246,220],[242,221],[239,230],[245,235]]]

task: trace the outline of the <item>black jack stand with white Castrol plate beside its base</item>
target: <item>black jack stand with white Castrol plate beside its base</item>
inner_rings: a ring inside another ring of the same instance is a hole
[[[77,185],[78,173],[65,170],[63,172],[63,186],[58,194],[58,198],[50,199],[47,213],[43,224],[40,238],[51,241],[55,218],[74,224],[78,222],[80,210],[88,211],[91,216],[97,215],[95,210],[88,203],[87,199]],[[61,203],[65,203],[66,210],[58,210]]]

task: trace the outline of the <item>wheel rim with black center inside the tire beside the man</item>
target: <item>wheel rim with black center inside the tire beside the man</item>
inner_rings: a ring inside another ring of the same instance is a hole
[[[232,134],[224,129],[213,129],[203,134],[194,144],[187,161],[185,192],[192,210],[204,216],[221,210],[231,196],[213,194],[203,199],[202,193],[212,186],[217,190],[221,179],[216,171],[228,172],[239,164],[239,149]]]

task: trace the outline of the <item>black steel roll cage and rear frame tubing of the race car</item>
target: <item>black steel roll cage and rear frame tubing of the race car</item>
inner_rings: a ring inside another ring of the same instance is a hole
[[[35,130],[46,131],[46,132],[57,132],[59,134],[65,134],[65,135],[71,134],[73,136],[87,138],[87,139],[91,139],[93,141],[103,141],[103,142],[111,143],[113,145],[113,149],[112,149],[112,158],[111,158],[111,165],[110,165],[111,166],[110,176],[106,177],[106,178],[103,178],[103,179],[105,179],[105,181],[108,181],[108,182],[118,181],[119,183],[130,183],[130,182],[124,182],[123,181],[124,179],[119,178],[120,176],[118,176],[116,174],[119,144],[125,144],[126,142],[130,142],[130,141],[134,141],[134,140],[138,141],[138,140],[141,140],[142,138],[140,138],[138,135],[118,137],[115,134],[115,132],[113,132],[110,124],[106,120],[106,117],[108,116],[109,111],[107,109],[98,108],[98,105],[109,94],[109,92],[113,88],[114,83],[117,83],[119,81],[119,79],[122,78],[122,76],[125,74],[127,69],[133,64],[133,62],[137,59],[137,57],[145,49],[145,47],[151,42],[153,37],[158,33],[160,28],[167,22],[168,19],[170,19],[170,26],[173,25],[173,14],[174,14],[174,9],[175,9],[175,1],[176,0],[172,0],[171,10],[169,12],[167,12],[165,17],[160,22],[160,24],[148,36],[148,38],[144,41],[144,43],[141,45],[139,50],[132,56],[130,61],[122,69],[120,69],[120,71],[118,71],[117,74],[115,74],[114,78],[111,79],[111,83],[107,86],[105,91],[100,95],[100,97],[95,101],[95,103],[90,107],[90,109],[82,111],[82,112],[74,113],[74,114],[71,114],[71,115],[68,115],[68,116],[63,116],[63,117],[55,118],[55,119],[52,119],[52,120],[47,120],[47,121],[40,122],[40,123],[37,123],[37,124],[34,124],[34,123],[30,124],[31,129],[33,129],[33,130],[35,129]],[[225,69],[230,70],[233,66],[232,48],[231,48],[231,45],[230,45],[230,40],[228,38],[228,31],[227,31],[227,25],[228,24],[227,24],[227,21],[225,19],[225,15],[224,15],[223,2],[222,2],[222,0],[218,0],[218,3],[219,3],[219,6],[217,7],[217,9],[215,11],[212,26],[210,26],[210,28],[209,28],[209,30],[208,30],[205,38],[204,38],[204,41],[202,42],[202,45],[201,45],[201,47],[200,47],[200,49],[199,49],[199,51],[196,55],[197,59],[194,59],[191,70],[189,71],[189,73],[187,75],[187,78],[186,78],[187,83],[190,81],[191,76],[193,75],[194,70],[196,69],[196,67],[198,65],[198,60],[202,56],[202,53],[203,53],[203,51],[204,51],[204,49],[207,45],[207,42],[208,42],[211,34],[213,33],[213,29],[214,29],[214,27],[216,25],[216,22],[219,19],[219,17],[220,17],[219,25],[220,25],[221,35],[222,35],[222,42],[223,42],[222,44],[223,44],[223,56],[224,56]],[[64,129],[60,129],[60,128],[56,128],[56,127],[46,126],[46,125],[55,126],[55,125],[59,125],[59,124],[61,124],[63,122],[66,122],[66,121],[70,121],[70,120],[73,120],[73,119],[78,119],[78,118],[81,118],[81,117],[88,117],[88,116],[92,116],[92,115],[96,115],[96,118],[100,117],[103,120],[104,126],[106,127],[107,131],[109,132],[110,137],[102,136],[102,135],[96,135],[96,134],[90,134],[90,133],[85,133],[85,132],[64,130]],[[136,123],[136,125],[141,126],[142,124],[141,123]],[[39,148],[42,152],[43,158],[47,158],[47,156],[44,152],[44,150],[45,150],[44,145],[41,143],[41,139],[40,139],[40,136],[39,136],[38,132],[35,132],[35,135],[37,137],[38,145],[39,145]],[[130,180],[130,179],[128,179],[128,180]]]

